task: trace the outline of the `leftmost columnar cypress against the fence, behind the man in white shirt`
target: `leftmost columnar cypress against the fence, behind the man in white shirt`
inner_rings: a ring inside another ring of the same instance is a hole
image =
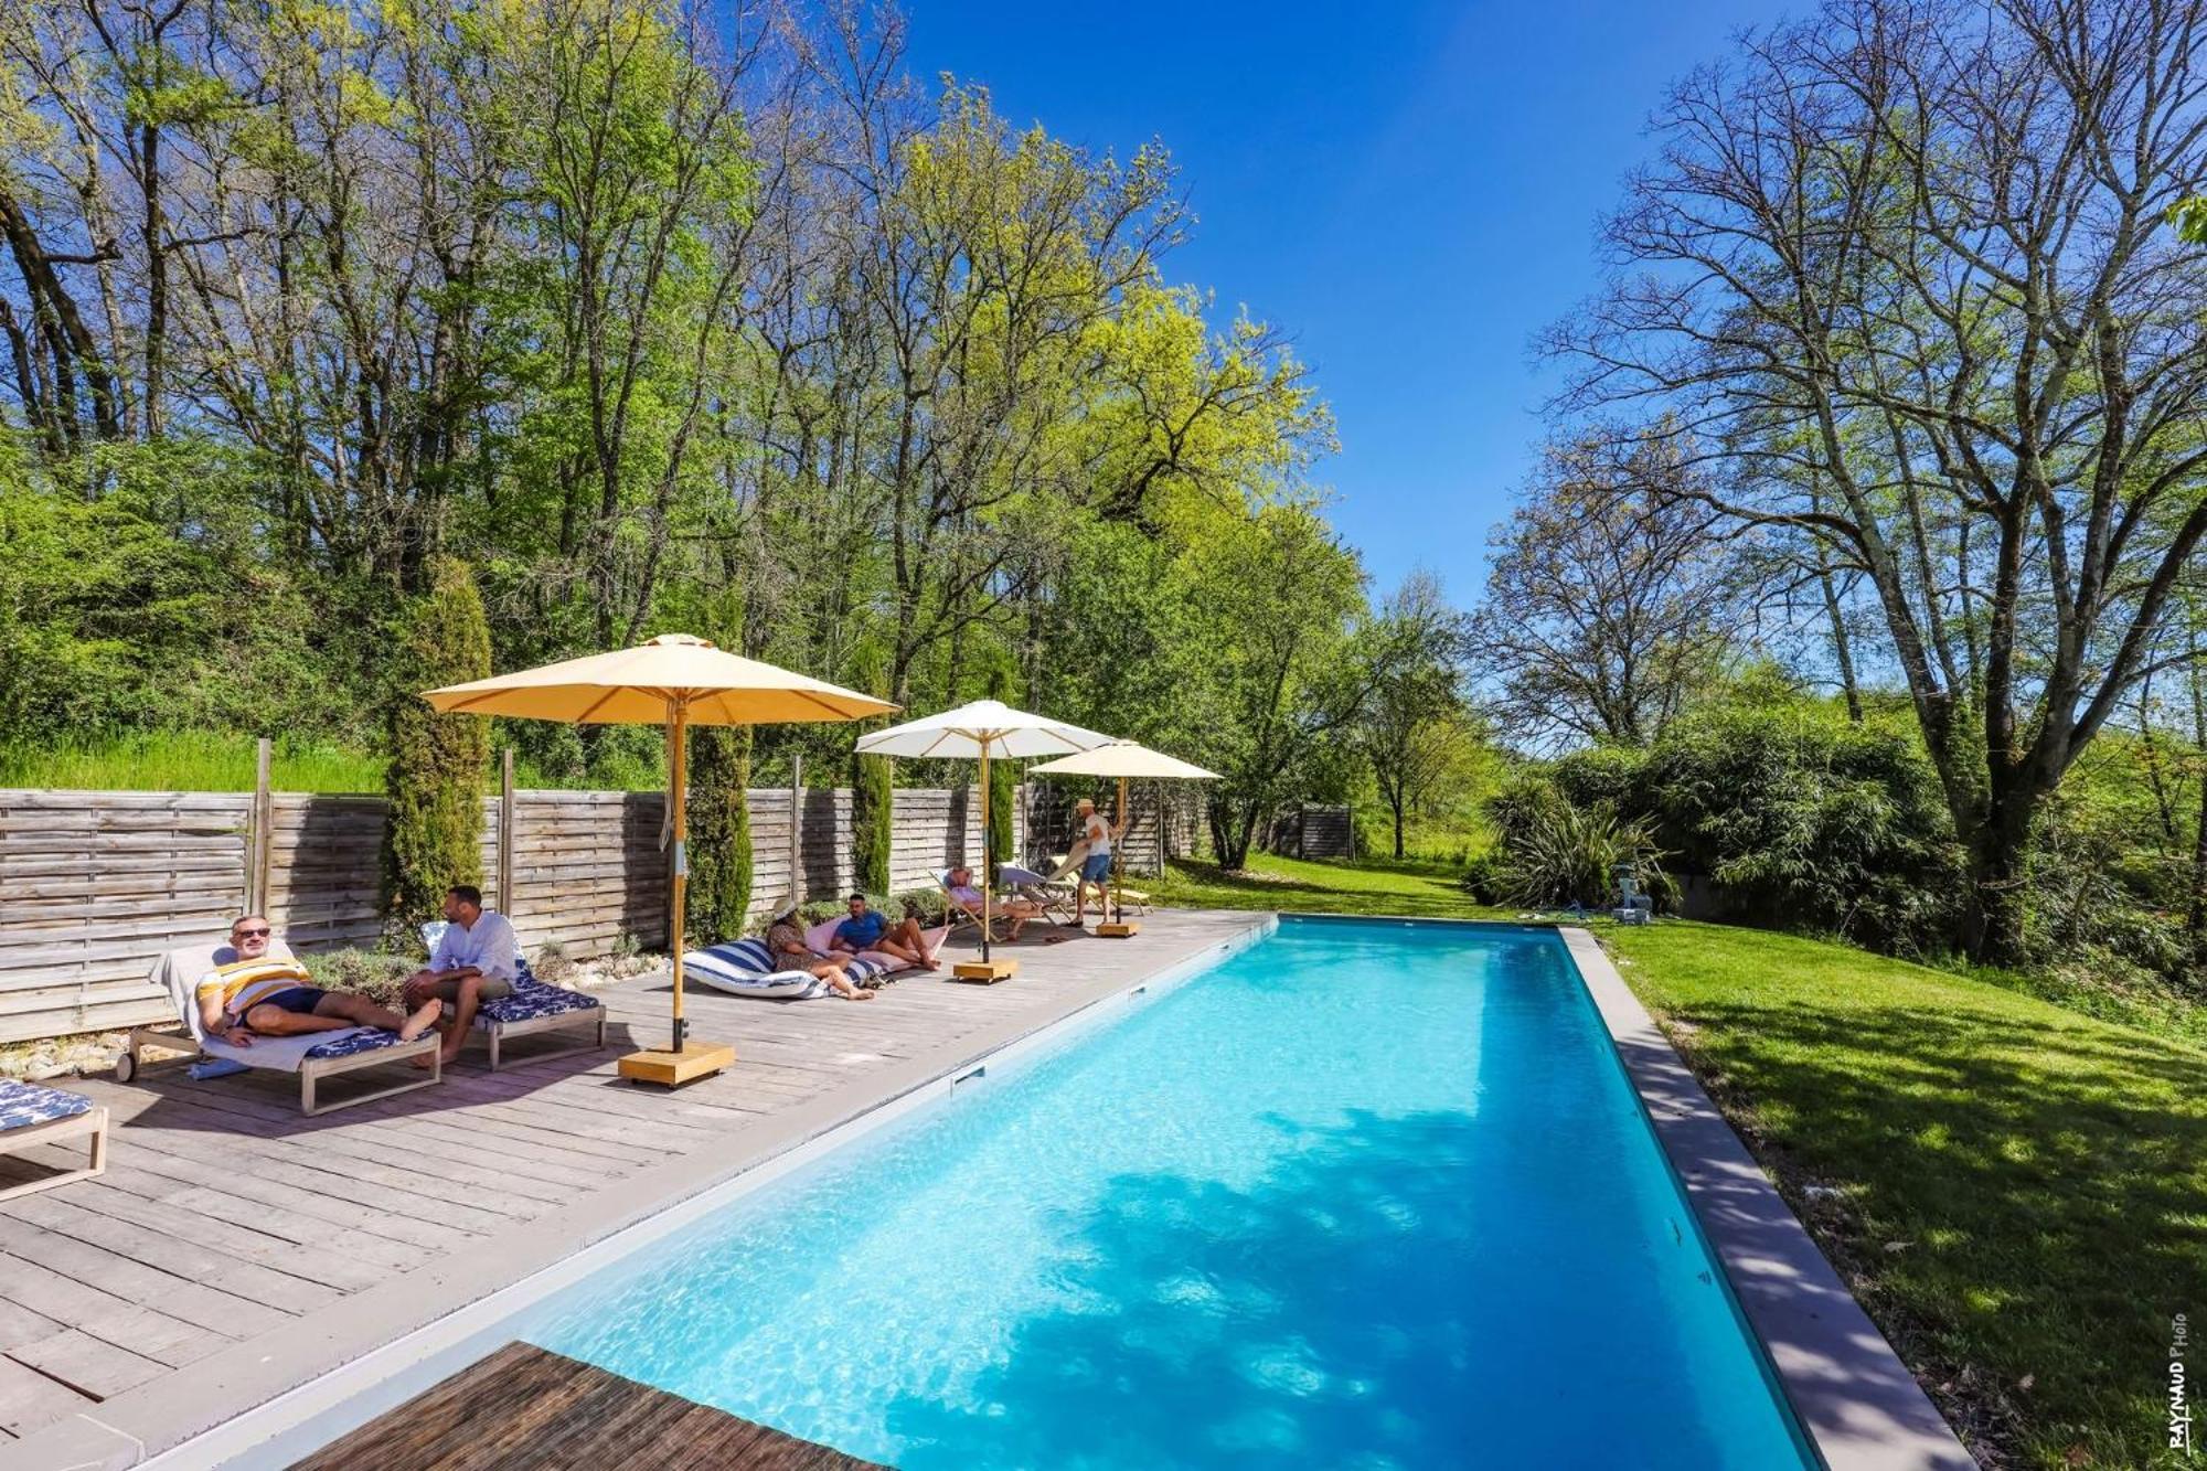
[[[468,563],[428,561],[428,592],[406,612],[395,671],[382,910],[386,932],[406,939],[437,917],[446,888],[483,881],[490,722],[439,716],[422,698],[424,689],[490,678],[490,623]]]

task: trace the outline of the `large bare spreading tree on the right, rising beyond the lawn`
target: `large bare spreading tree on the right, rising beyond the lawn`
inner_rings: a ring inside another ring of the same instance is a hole
[[[1878,599],[2024,952],[2033,822],[2154,658],[2207,535],[2200,0],[1834,0],[1657,113],[1556,334],[1565,406],[1655,400],[1728,459],[1677,499],[1823,541]],[[1810,488],[1823,501],[1810,499]]]

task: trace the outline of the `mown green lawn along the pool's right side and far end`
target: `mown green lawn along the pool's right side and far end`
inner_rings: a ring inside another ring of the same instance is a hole
[[[1430,868],[1256,861],[1161,897],[1492,917]],[[2165,1447],[2169,1319],[2207,1321],[2207,1049],[1823,941],[1596,930],[1986,1464],[2200,1464]]]

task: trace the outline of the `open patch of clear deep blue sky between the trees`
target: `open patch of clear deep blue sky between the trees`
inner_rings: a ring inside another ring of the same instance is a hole
[[[1483,581],[1540,440],[1534,334],[1598,281],[1596,216],[1664,86],[1777,0],[907,0],[911,66],[1015,124],[1159,137],[1201,216],[1170,274],[1296,338],[1340,420],[1320,475],[1379,588]]]

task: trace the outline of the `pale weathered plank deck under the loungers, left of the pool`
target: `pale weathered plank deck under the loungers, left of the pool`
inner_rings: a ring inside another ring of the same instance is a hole
[[[99,1179],[0,1204],[0,1471],[154,1456],[1265,921],[1159,912],[1000,948],[1002,985],[870,1003],[693,987],[693,1038],[737,1065],[678,1093],[614,1076],[667,1040],[664,972],[603,992],[605,1051],[490,1073],[477,1045],[439,1087],[318,1118],[289,1076],[57,1080],[113,1144]],[[0,1160],[0,1186],[35,1173]]]

